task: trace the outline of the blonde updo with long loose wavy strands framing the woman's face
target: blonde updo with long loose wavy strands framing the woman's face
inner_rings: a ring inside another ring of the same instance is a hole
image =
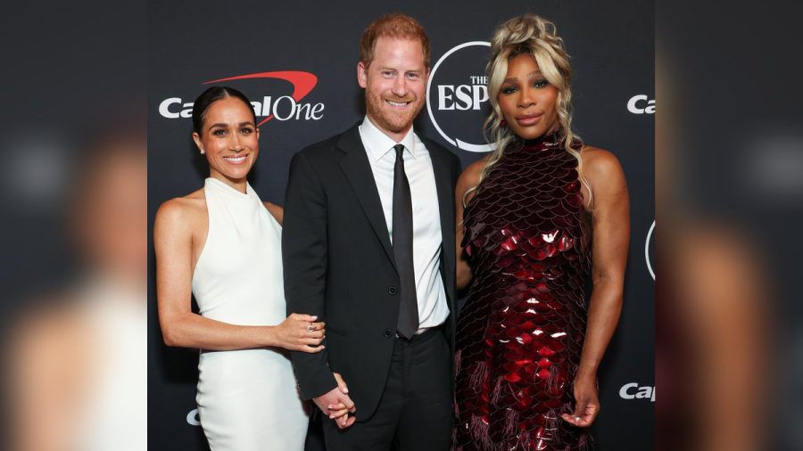
[[[582,176],[583,160],[580,152],[572,148],[572,142],[580,139],[572,131],[572,90],[570,86],[572,67],[563,39],[557,35],[555,24],[535,14],[524,14],[505,23],[496,29],[491,39],[491,58],[485,68],[488,75],[488,100],[491,103],[491,115],[485,119],[484,135],[488,143],[493,144],[493,151],[488,162],[480,173],[476,186],[463,194],[463,205],[466,205],[468,193],[475,191],[482,183],[493,165],[501,159],[516,135],[509,127],[502,126],[501,109],[497,100],[502,82],[508,74],[508,61],[518,55],[531,55],[538,64],[543,77],[558,88],[558,119],[560,129],[565,136],[564,148],[577,159],[577,168],[581,183],[585,184],[589,193],[589,205],[592,204],[591,186]],[[582,144],[582,141],[581,141]]]

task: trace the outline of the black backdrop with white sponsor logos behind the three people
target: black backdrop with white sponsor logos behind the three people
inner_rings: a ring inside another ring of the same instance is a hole
[[[386,12],[416,17],[435,66],[418,133],[447,145],[465,167],[482,153],[484,44],[509,17],[554,21],[575,70],[575,131],[617,154],[630,186],[632,242],[625,307],[600,368],[601,450],[644,450],[654,436],[654,35],[653,5],[604,2],[409,0],[370,2],[151,2],[149,4],[149,222],[162,201],[203,185],[207,168],[190,134],[188,109],[205,83],[223,78],[260,102],[261,156],[252,185],[284,203],[294,152],[364,115],[356,80],[358,44]],[[249,77],[242,77],[249,76]],[[307,92],[308,91],[308,92]],[[184,111],[184,112],[182,112]],[[273,114],[272,118],[269,115]],[[467,144],[468,143],[468,144]],[[152,240],[151,240],[152,242]],[[148,443],[154,450],[206,449],[195,414],[197,351],[166,348],[156,316],[150,250]]]

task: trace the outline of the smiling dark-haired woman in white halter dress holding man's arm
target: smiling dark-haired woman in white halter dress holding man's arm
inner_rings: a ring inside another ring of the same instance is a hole
[[[286,349],[319,352],[324,324],[286,316],[283,209],[245,178],[259,153],[251,103],[213,86],[195,101],[193,127],[210,176],[164,202],[153,226],[164,341],[201,349],[196,401],[213,451],[301,450],[309,419]]]

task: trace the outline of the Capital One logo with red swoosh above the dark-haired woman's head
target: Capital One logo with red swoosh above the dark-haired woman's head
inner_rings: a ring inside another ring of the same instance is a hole
[[[254,74],[237,75],[235,77],[219,78],[203,82],[203,85],[212,83],[223,83],[230,81],[265,79],[283,80],[293,86],[293,92],[289,95],[279,95],[275,97],[270,94],[262,94],[261,102],[252,101],[253,111],[261,119],[257,127],[271,119],[277,120],[319,120],[323,118],[323,103],[304,103],[302,99],[310,94],[312,88],[318,84],[318,77],[310,72],[300,70],[278,70],[275,72],[257,72]],[[264,84],[264,83],[263,83]],[[286,83],[282,83],[286,85]],[[256,89],[265,89],[265,86],[248,86],[249,92]],[[264,91],[263,91],[264,92]],[[251,95],[249,95],[251,97]],[[252,97],[253,98],[253,97]],[[184,102],[181,97],[170,97],[164,99],[159,104],[159,114],[167,119],[191,118],[193,116],[193,102]]]

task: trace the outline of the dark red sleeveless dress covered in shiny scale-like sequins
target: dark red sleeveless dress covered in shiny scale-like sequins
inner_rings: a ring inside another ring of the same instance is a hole
[[[474,283],[457,328],[457,450],[591,446],[560,418],[573,412],[591,271],[577,160],[563,143],[510,144],[465,209]]]

